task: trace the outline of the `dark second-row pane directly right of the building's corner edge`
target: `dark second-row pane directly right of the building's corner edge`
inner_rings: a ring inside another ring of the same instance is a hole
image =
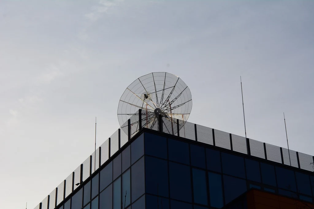
[[[146,156],[145,170],[146,192],[169,197],[167,161]]]

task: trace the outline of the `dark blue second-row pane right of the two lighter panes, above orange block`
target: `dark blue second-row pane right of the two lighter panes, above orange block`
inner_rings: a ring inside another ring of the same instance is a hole
[[[246,180],[224,175],[226,204],[246,192]]]

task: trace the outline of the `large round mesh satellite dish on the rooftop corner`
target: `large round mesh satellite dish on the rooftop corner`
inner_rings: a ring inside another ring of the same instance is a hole
[[[187,85],[168,72],[152,72],[136,79],[122,94],[118,105],[118,120],[127,133],[127,121],[142,110],[142,126],[158,130],[159,115],[163,131],[176,134],[179,119],[184,126],[192,110],[192,95]],[[134,117],[133,117],[134,118]],[[131,121],[131,135],[139,130],[138,121]]]

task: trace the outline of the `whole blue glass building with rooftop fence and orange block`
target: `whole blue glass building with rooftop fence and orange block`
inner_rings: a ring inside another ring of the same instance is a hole
[[[35,209],[313,208],[313,156],[161,115],[138,127],[141,112]]]

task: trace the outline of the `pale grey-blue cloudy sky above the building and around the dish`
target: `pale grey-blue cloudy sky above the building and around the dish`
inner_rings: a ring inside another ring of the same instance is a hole
[[[33,209],[119,128],[150,72],[190,88],[189,121],[314,155],[314,1],[0,2],[0,208]]]

